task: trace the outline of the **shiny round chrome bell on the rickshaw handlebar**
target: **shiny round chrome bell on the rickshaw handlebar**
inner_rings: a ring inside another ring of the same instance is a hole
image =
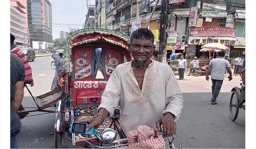
[[[116,140],[117,133],[115,130],[106,128],[101,133],[101,140],[103,143],[112,143],[114,140]]]

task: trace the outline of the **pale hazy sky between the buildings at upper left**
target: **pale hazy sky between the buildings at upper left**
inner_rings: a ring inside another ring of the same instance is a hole
[[[87,14],[86,0],[50,0],[50,3],[53,40],[60,37],[60,31],[68,31],[69,27],[81,29],[84,26]],[[88,0],[89,3],[95,5],[95,0]]]

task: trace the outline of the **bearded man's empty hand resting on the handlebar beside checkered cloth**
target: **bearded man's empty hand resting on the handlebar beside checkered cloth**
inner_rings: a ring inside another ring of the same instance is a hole
[[[156,126],[158,131],[161,131],[161,124],[163,125],[163,135],[171,136],[176,132],[176,122],[174,122],[175,116],[172,113],[166,113],[164,117],[157,120]]]

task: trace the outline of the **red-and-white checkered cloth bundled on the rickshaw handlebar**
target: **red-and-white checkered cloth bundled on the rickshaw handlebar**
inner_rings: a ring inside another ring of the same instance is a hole
[[[154,138],[155,130],[142,125],[128,132],[128,146],[119,149],[165,149],[166,143],[161,136]]]

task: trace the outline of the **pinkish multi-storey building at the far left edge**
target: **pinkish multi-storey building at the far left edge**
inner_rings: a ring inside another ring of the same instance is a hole
[[[11,0],[10,31],[17,45],[28,46],[28,22],[26,0]]]

